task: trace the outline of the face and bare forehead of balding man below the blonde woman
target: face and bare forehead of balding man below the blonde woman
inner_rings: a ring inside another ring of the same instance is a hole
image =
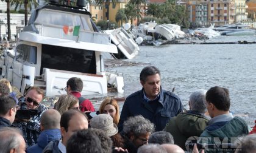
[[[68,123],[68,131],[65,131],[64,127],[60,127],[62,132],[62,143],[66,146],[69,138],[74,134],[74,132],[88,129],[88,121],[82,114],[76,114],[71,117]]]

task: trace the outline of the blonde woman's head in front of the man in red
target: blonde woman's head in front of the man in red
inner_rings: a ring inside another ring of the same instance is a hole
[[[60,115],[69,109],[80,110],[78,99],[73,95],[61,95],[55,103],[55,109],[60,112]]]

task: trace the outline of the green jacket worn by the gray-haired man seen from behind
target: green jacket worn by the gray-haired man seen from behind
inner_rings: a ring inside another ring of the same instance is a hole
[[[171,133],[174,144],[186,151],[185,143],[187,139],[191,136],[199,137],[207,126],[207,122],[208,119],[202,115],[184,112],[177,115],[177,117],[172,117],[163,131]]]

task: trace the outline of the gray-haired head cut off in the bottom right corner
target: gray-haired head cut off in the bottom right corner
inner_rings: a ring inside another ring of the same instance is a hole
[[[250,134],[241,140],[240,145],[236,148],[235,153],[256,152],[256,134]]]

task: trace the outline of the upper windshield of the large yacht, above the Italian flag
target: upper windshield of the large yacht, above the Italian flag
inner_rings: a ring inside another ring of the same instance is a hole
[[[39,25],[80,25],[81,30],[93,31],[89,15],[63,12],[60,10],[42,9],[38,12],[37,19],[35,19],[34,23]]]

